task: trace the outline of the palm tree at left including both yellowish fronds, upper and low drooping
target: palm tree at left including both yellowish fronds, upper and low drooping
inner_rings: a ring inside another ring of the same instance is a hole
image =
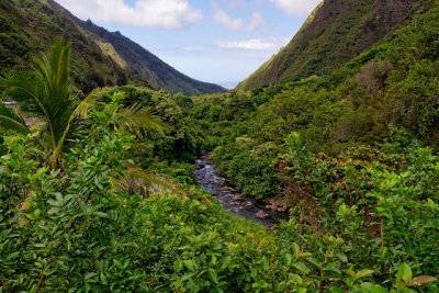
[[[60,155],[72,126],[80,119],[88,117],[90,106],[98,104],[100,89],[93,90],[80,100],[69,81],[69,58],[71,44],[59,38],[49,54],[34,59],[31,69],[10,70],[0,78],[3,99],[19,103],[20,110],[36,115],[44,124],[36,136],[38,145],[46,150],[53,169],[60,167]],[[164,134],[164,124],[150,109],[140,104],[122,108],[116,113],[117,126],[137,134],[144,129]],[[22,134],[32,133],[24,119],[0,102],[0,126]],[[122,180],[112,180],[117,190],[131,190],[147,195],[161,190],[181,194],[181,189],[170,178],[151,171],[130,167]]]

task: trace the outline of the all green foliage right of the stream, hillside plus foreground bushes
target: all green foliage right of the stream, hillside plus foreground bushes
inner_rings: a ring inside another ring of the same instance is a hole
[[[346,266],[381,284],[406,264],[439,273],[438,20],[438,3],[420,10],[323,78],[193,98],[217,170],[289,203],[280,236],[334,257],[316,262],[324,285]],[[327,235],[339,237],[330,252]]]

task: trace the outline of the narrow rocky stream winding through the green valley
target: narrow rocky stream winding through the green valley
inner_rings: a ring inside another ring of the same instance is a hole
[[[226,178],[216,174],[215,165],[209,159],[212,153],[204,154],[195,160],[195,174],[199,184],[211,192],[224,209],[233,214],[259,222],[266,227],[272,227],[280,219],[289,218],[286,212],[266,207],[267,203],[241,194],[239,190],[229,184]]]

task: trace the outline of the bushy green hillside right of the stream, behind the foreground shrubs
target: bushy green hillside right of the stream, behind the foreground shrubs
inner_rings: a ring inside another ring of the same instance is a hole
[[[438,4],[418,12],[409,24],[324,78],[193,98],[193,124],[219,146],[214,153],[218,170],[249,188],[252,174],[246,168],[255,167],[258,185],[279,185],[271,161],[285,151],[283,139],[292,131],[311,151],[329,155],[382,145],[395,127],[437,146],[438,20]],[[249,157],[257,164],[243,164]],[[264,192],[247,193],[275,193]]]

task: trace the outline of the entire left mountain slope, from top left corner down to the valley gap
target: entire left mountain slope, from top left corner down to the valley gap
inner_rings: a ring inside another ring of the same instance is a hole
[[[83,91],[128,82],[184,94],[225,91],[187,77],[120,33],[78,20],[53,0],[0,1],[0,69],[27,64],[58,36],[72,41],[72,78]]]

